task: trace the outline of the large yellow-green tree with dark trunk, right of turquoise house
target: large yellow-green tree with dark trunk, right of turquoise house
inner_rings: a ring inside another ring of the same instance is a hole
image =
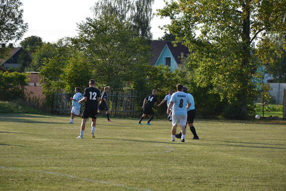
[[[186,67],[197,86],[211,87],[245,119],[256,94],[255,42],[285,34],[285,9],[282,0],[172,0],[158,14],[171,19],[165,28],[192,52]]]

